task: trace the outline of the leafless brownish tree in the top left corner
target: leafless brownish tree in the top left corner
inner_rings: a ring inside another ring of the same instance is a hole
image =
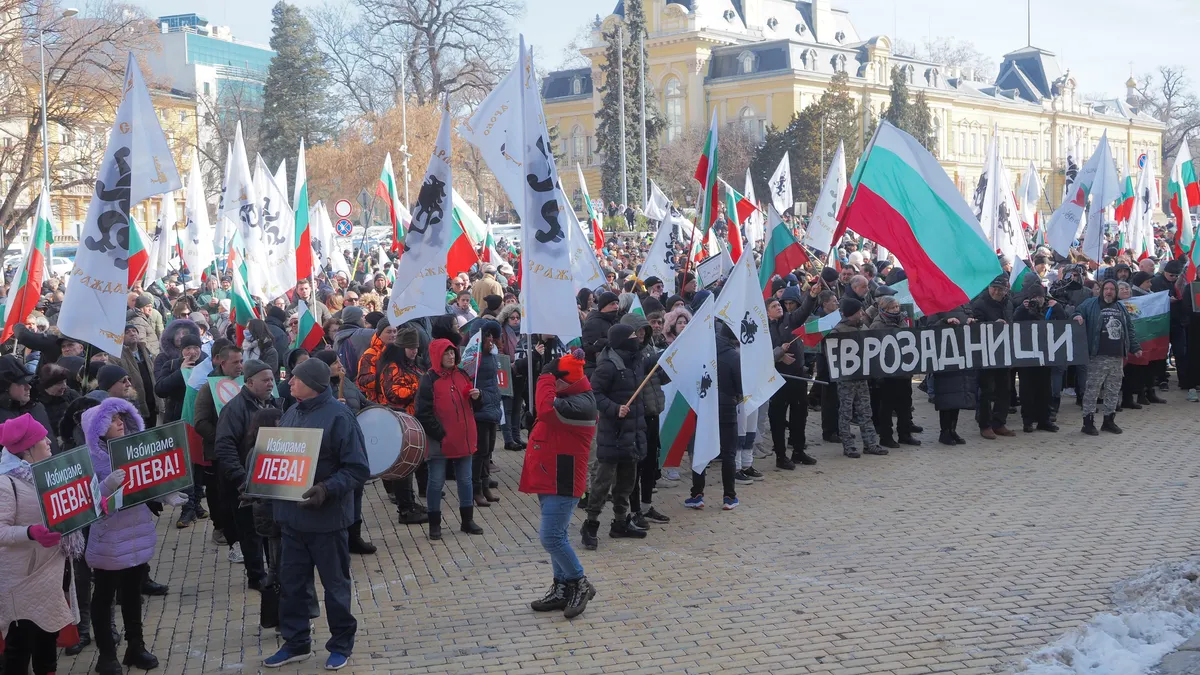
[[[46,41],[52,192],[92,183],[120,102],[126,58],[157,46],[152,22],[131,5],[98,0],[78,18],[61,20],[61,14],[58,0],[0,0],[0,228],[6,241],[32,215],[42,180],[38,32]]]

